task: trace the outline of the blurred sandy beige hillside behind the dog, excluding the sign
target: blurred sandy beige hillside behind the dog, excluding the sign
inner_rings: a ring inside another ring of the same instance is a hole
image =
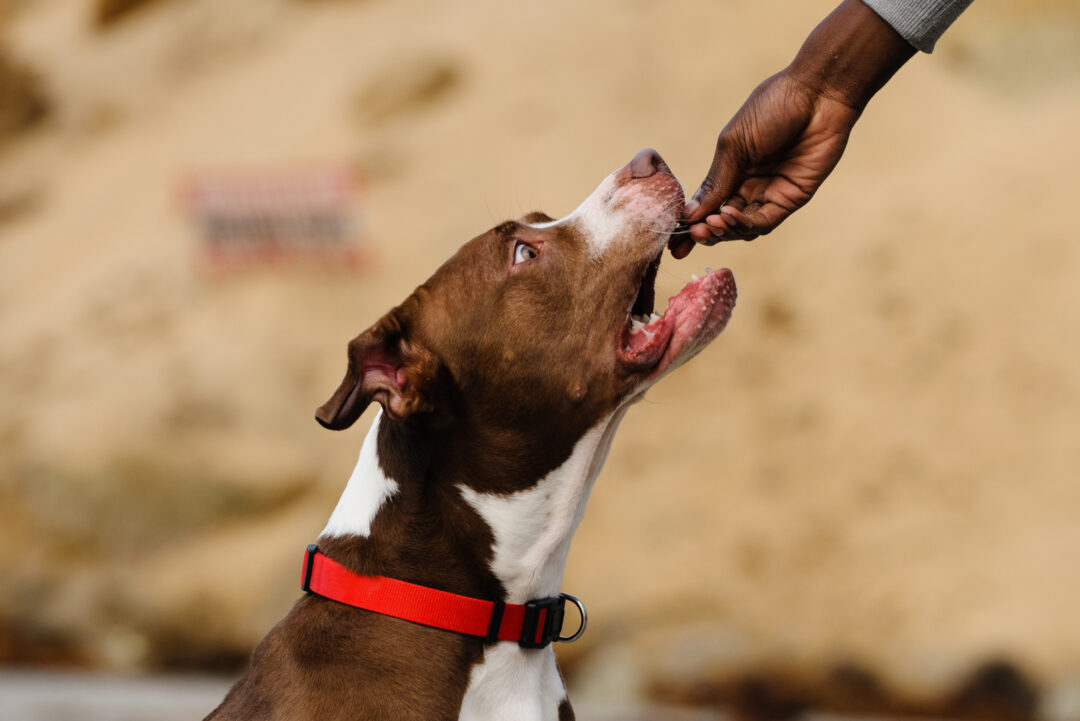
[[[372,418],[312,419],[347,340],[639,148],[692,192],[834,2],[124,4],[0,2],[6,666],[235,672]],[[573,689],[1080,719],[1078,128],[1080,2],[977,0],[807,208],[665,259],[739,307],[616,440]],[[186,177],[319,163],[373,263],[199,272]]]

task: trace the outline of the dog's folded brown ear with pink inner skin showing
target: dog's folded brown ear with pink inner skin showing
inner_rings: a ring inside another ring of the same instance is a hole
[[[315,411],[315,420],[332,431],[342,431],[373,400],[392,421],[434,410],[430,391],[438,368],[433,353],[408,340],[392,311],[349,342],[345,380]]]

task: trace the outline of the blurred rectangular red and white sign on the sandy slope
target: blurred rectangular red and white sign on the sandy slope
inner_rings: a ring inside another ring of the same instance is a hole
[[[345,166],[265,174],[205,174],[184,204],[212,270],[255,264],[357,267],[366,243],[356,218],[360,183]]]

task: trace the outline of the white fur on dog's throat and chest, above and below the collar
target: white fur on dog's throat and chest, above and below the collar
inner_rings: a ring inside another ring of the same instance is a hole
[[[570,541],[626,408],[585,433],[570,457],[530,489],[503,495],[460,487],[491,528],[491,572],[507,589],[508,603],[559,593]],[[484,661],[473,667],[460,719],[554,721],[565,698],[551,647],[532,650],[499,641],[487,647]]]

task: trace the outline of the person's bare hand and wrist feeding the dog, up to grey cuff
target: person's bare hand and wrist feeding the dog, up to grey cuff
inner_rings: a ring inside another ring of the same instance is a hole
[[[842,0],[720,132],[672,255],[685,258],[696,243],[752,241],[802,207],[836,167],[870,97],[914,53],[862,0]]]

